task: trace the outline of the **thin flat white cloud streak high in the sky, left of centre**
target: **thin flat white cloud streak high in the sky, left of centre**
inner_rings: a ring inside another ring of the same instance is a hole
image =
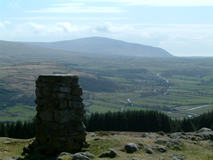
[[[94,7],[86,6],[83,3],[54,4],[53,7],[35,11],[25,11],[28,13],[120,13],[124,10],[118,7]]]

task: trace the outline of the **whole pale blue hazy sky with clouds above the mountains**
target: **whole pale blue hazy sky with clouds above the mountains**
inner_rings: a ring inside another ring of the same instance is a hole
[[[213,0],[0,0],[0,40],[93,36],[213,56]]]

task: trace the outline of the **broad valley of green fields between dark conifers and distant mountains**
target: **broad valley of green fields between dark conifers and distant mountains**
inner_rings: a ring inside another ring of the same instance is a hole
[[[49,62],[35,56],[34,62],[11,60],[0,65],[0,121],[34,117],[35,80],[39,74],[52,73],[79,75],[87,115],[125,106],[158,109],[179,118],[213,109],[213,58],[70,56],[57,63],[55,57],[46,58]],[[211,106],[188,111],[202,105]]]

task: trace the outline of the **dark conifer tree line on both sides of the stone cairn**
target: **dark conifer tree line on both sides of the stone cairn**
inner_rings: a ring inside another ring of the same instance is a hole
[[[157,110],[92,113],[85,119],[87,131],[193,132],[202,127],[213,129],[213,111],[194,118],[173,120]],[[33,121],[0,122],[0,137],[35,137]]]

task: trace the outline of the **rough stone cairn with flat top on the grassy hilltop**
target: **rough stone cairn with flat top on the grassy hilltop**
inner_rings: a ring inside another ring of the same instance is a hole
[[[78,76],[40,75],[36,81],[36,137],[24,154],[75,153],[86,147],[82,88]]]

